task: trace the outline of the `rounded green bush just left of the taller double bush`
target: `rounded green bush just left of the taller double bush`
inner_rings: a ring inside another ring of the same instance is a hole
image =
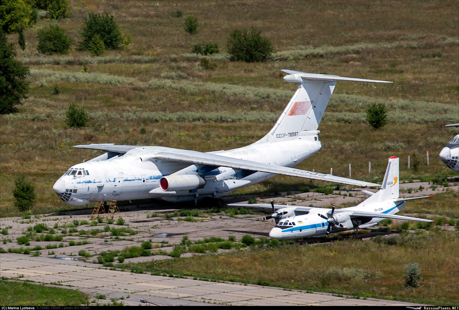
[[[73,39],[65,34],[65,30],[58,25],[50,25],[49,28],[37,31],[38,45],[37,50],[44,54],[67,54]]]

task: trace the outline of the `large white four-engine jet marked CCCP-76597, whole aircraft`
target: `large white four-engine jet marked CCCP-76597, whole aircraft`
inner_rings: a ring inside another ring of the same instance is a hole
[[[74,147],[106,153],[72,166],[56,181],[53,190],[66,203],[80,206],[98,200],[145,198],[196,203],[206,197],[217,199],[278,174],[356,186],[380,186],[290,167],[321,149],[317,129],[336,81],[392,82],[282,71],[288,73],[285,81],[297,83],[298,89],[274,127],[259,141],[214,152],[114,144],[77,145]],[[221,199],[217,202],[223,203]]]

